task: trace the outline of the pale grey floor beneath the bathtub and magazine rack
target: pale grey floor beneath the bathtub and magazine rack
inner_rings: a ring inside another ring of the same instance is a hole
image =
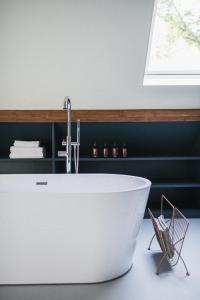
[[[120,279],[91,285],[1,286],[0,300],[199,300],[200,299],[200,219],[191,219],[181,262],[155,274],[160,258],[157,241],[147,250],[152,237],[150,220],[144,220],[131,271]]]

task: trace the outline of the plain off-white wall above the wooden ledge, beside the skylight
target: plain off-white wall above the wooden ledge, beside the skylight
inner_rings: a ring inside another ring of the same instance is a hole
[[[143,87],[153,0],[0,0],[0,109],[200,108]]]

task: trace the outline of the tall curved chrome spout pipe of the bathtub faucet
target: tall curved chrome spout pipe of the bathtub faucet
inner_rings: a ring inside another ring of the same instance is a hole
[[[64,99],[64,109],[67,110],[66,173],[71,173],[71,101],[68,96]]]

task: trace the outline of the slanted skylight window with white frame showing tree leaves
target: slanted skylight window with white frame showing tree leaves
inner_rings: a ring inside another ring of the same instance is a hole
[[[200,0],[157,0],[144,85],[200,85]]]

